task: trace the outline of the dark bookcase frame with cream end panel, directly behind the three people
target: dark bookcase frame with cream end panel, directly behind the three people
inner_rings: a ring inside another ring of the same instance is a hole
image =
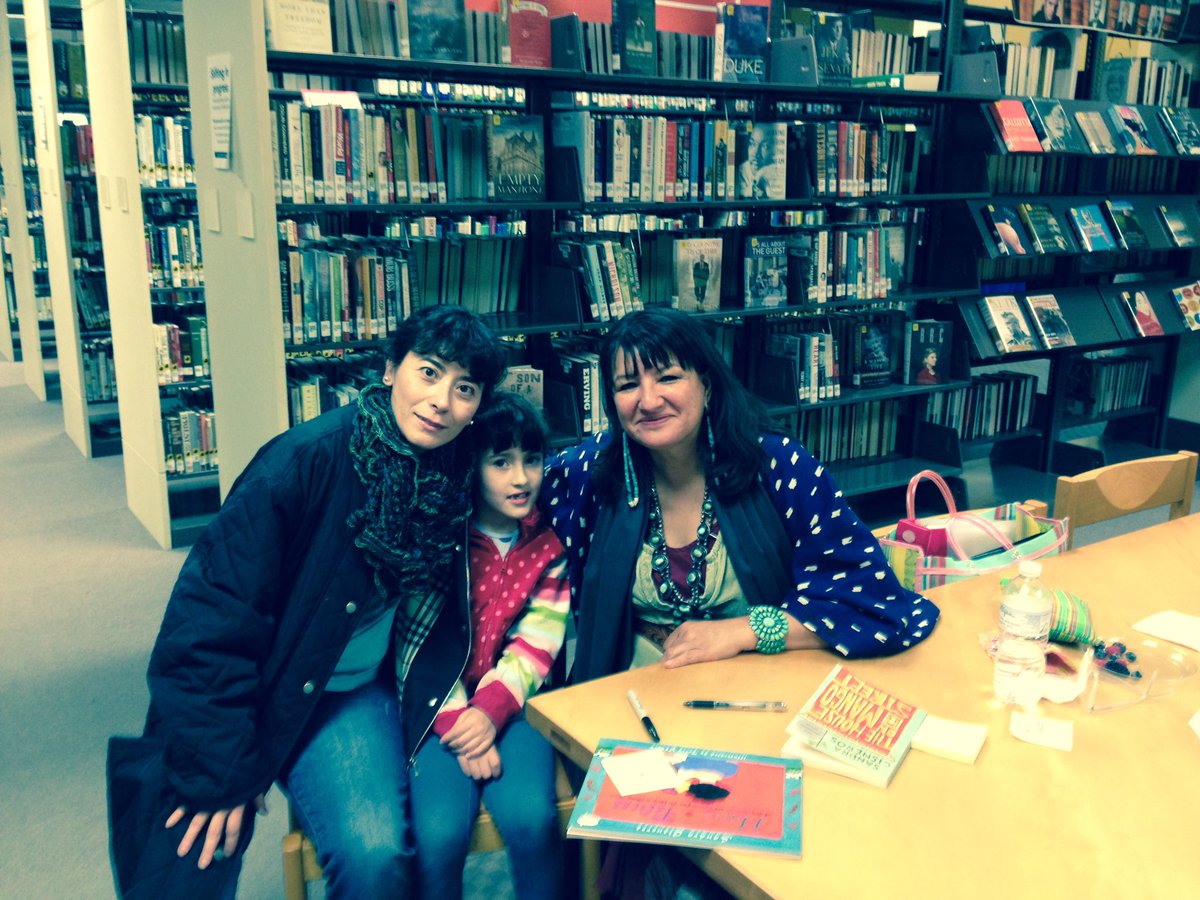
[[[899,7],[898,7],[899,8]],[[917,10],[920,16],[944,20],[947,7],[942,4],[908,4],[904,10]],[[902,14],[902,13],[900,13]],[[221,409],[221,487],[228,491],[233,479],[245,467],[253,452],[266,439],[289,425],[287,358],[301,348],[286,344],[280,337],[280,263],[281,251],[277,239],[278,218],[320,217],[322,221],[344,221],[350,216],[386,220],[404,215],[457,216],[488,211],[518,211],[529,218],[529,259],[548,260],[553,256],[553,242],[560,235],[560,223],[576,215],[602,216],[619,212],[658,212],[668,210],[689,214],[740,210],[751,221],[767,228],[772,210],[822,209],[853,210],[880,206],[925,209],[936,204],[953,203],[965,197],[982,199],[982,192],[949,194],[936,186],[910,190],[901,196],[877,196],[858,198],[830,198],[805,194],[803,199],[787,200],[728,200],[685,202],[655,204],[586,203],[582,194],[569,186],[570,178],[564,172],[570,164],[559,162],[564,156],[546,142],[548,179],[558,187],[544,202],[502,204],[467,202],[450,204],[356,204],[337,206],[331,204],[276,204],[275,166],[270,148],[276,137],[277,121],[272,100],[286,100],[280,91],[272,92],[272,74],[277,72],[310,73],[344,78],[347,82],[370,82],[372,78],[416,79],[446,84],[486,84],[524,89],[524,112],[544,118],[547,138],[552,100],[562,91],[599,91],[630,95],[679,95],[684,97],[708,97],[714,106],[726,108],[742,100],[750,100],[757,109],[770,109],[778,120],[830,119],[842,116],[856,119],[866,115],[880,116],[887,109],[919,108],[928,116],[930,127],[936,130],[944,114],[944,107],[979,102],[978,96],[949,92],[920,92],[883,89],[814,88],[779,84],[728,84],[710,80],[677,78],[642,78],[631,76],[593,76],[563,70],[527,70],[474,64],[437,62],[422,60],[398,60],[379,56],[346,54],[302,54],[268,50],[265,41],[264,12],[258,4],[235,0],[202,2],[185,0],[184,16],[187,31],[190,83],[194,96],[205,96],[212,83],[212,74],[229,67],[232,74],[232,166],[228,169],[214,164],[214,127],[210,116],[200,115],[194,121],[194,154],[197,164],[198,203],[204,228],[206,269],[206,293],[209,334],[211,340],[212,386],[215,402]],[[294,97],[298,95],[293,95]],[[389,98],[391,103],[404,104],[404,98]],[[412,102],[412,101],[408,101]],[[424,101],[422,101],[424,102]],[[814,112],[822,104],[834,108]],[[774,116],[768,116],[768,120]],[[934,132],[936,133],[936,132]],[[931,154],[938,151],[932,142]],[[936,156],[928,160],[930,173],[936,169]],[[930,173],[926,173],[929,175]],[[931,178],[928,178],[931,182]],[[337,217],[343,217],[338,220]],[[698,229],[710,233],[713,229]],[[839,301],[821,308],[786,307],[779,311],[745,310],[740,295],[740,242],[746,229],[738,232],[737,251],[730,262],[725,281],[737,281],[737,288],[728,287],[722,294],[725,302],[719,310],[704,313],[736,335],[732,355],[744,376],[750,376],[750,365],[761,356],[761,342],[766,330],[775,318],[821,318],[834,311],[872,310],[878,300],[858,302]],[[919,256],[919,253],[918,253]],[[910,311],[918,302],[935,298],[953,298],[961,288],[946,288],[937,272],[929,266],[917,266],[919,275],[906,290],[892,299],[893,308]],[[570,275],[563,276],[560,266],[532,264],[524,275],[521,292],[522,306],[517,313],[497,317],[502,332],[523,343],[527,359],[545,365],[546,358],[539,353],[550,350],[550,332],[588,334],[604,328],[602,323],[586,320],[576,298],[576,286]],[[929,276],[932,272],[932,277]],[[564,289],[565,288],[565,289]],[[968,288],[971,289],[971,288]],[[568,302],[562,302],[563,296]],[[556,305],[557,304],[557,305]],[[318,353],[320,346],[312,348]],[[343,347],[326,348],[337,353]],[[750,380],[755,380],[750,378]],[[954,474],[960,464],[956,436],[953,430],[940,426],[923,426],[916,413],[916,404],[925,395],[949,390],[959,384],[904,385],[845,391],[839,398],[821,401],[802,408],[796,402],[794,385],[772,384],[770,379],[757,379],[760,392],[772,402],[773,412],[782,421],[820,410],[828,414],[828,425],[841,421],[842,412],[872,402],[889,403],[896,416],[892,433],[896,449],[878,458],[856,458],[839,463],[836,475],[850,494],[863,494],[906,484],[920,468],[937,468]],[[550,397],[547,396],[547,407]],[[841,412],[839,412],[841,410]],[[847,416],[848,421],[848,416]]]

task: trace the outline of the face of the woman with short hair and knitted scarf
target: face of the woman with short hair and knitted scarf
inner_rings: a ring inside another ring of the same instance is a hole
[[[433,450],[458,437],[484,396],[466,368],[427,354],[389,360],[384,384],[391,385],[396,425],[416,450]]]

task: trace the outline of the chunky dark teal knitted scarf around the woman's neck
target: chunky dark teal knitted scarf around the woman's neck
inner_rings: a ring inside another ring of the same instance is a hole
[[[358,529],[354,544],[374,569],[380,598],[444,589],[470,509],[467,461],[452,442],[418,454],[396,425],[384,384],[359,394],[350,456],[367,502],[347,524]]]

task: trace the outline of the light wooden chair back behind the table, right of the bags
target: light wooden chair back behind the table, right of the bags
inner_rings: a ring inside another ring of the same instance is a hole
[[[1196,486],[1196,454],[1181,450],[1063,475],[1054,498],[1055,518],[1069,518],[1067,548],[1075,529],[1132,512],[1170,505],[1170,518],[1192,511]]]

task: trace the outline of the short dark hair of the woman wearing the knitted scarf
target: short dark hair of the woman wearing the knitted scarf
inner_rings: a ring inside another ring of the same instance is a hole
[[[425,306],[401,322],[388,344],[388,359],[398,365],[409,353],[457,362],[479,382],[485,397],[500,383],[506,368],[499,338],[462,306]]]

